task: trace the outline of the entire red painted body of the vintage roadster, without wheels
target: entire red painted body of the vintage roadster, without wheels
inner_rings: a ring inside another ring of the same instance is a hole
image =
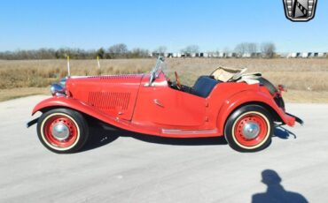
[[[54,96],[35,106],[75,109],[106,124],[145,134],[172,138],[222,136],[224,124],[239,106],[263,103],[288,125],[269,91],[259,84],[218,83],[207,98],[171,88],[163,72],[148,85],[150,74],[67,79],[66,96]]]

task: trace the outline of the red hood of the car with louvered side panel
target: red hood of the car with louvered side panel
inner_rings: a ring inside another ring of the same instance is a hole
[[[143,74],[71,77],[66,80],[66,93],[106,115],[130,120],[143,77]]]

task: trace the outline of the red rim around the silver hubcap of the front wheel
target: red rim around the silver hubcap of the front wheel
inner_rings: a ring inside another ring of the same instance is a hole
[[[56,138],[56,136],[52,134],[52,129],[56,124],[63,124],[64,126],[66,126],[69,132],[66,139],[58,139]],[[50,117],[44,124],[43,129],[44,129],[45,139],[47,139],[47,141],[52,146],[55,147],[60,147],[60,148],[71,147],[72,145],[74,145],[78,137],[77,126],[74,123],[74,121],[71,118],[63,115]]]

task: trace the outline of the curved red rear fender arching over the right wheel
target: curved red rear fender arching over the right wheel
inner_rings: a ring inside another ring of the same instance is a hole
[[[230,114],[235,109],[238,109],[238,107],[247,103],[263,104],[264,106],[269,107],[269,110],[276,112],[277,116],[280,117],[285,124],[288,124],[289,126],[293,126],[295,124],[295,117],[289,116],[283,109],[280,109],[270,94],[254,90],[246,90],[232,95],[224,102],[223,106],[219,110],[217,122],[218,129],[222,134],[224,131],[225,122],[228,117],[230,117]]]

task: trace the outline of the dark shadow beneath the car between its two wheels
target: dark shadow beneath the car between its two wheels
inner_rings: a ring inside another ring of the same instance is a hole
[[[175,145],[175,146],[207,146],[207,145],[227,145],[224,137],[215,138],[191,138],[177,139],[152,136],[137,132],[128,132],[108,125],[92,124],[90,125],[89,139],[82,151],[88,151],[94,148],[103,147],[120,137],[129,137],[144,142]]]

